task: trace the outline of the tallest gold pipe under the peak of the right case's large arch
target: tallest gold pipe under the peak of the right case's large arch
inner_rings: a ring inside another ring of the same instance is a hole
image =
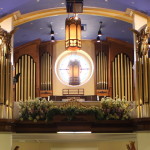
[[[123,53],[121,53],[121,99],[124,99],[124,67],[123,67]]]

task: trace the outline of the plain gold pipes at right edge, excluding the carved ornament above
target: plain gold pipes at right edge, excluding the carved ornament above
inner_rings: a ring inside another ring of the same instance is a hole
[[[143,55],[138,62],[139,113],[150,117],[150,58]]]

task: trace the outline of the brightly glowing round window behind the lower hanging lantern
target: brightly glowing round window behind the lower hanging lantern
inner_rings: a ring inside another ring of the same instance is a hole
[[[55,63],[55,73],[57,78],[66,85],[69,85],[69,65],[70,62],[78,62],[80,84],[83,85],[91,78],[94,70],[93,61],[91,57],[84,51],[78,50],[75,52],[65,51],[57,58]],[[72,86],[72,85],[69,85]],[[75,85],[74,85],[75,86]]]

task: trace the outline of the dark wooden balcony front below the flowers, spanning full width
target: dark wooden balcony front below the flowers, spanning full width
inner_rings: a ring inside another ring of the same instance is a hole
[[[150,118],[132,120],[53,120],[50,122],[0,119],[0,132],[56,133],[58,131],[92,131],[92,133],[132,133],[150,131]]]

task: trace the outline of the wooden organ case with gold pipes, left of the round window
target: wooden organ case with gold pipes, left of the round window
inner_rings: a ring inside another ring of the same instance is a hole
[[[52,95],[52,43],[35,40],[15,48],[15,101]]]

